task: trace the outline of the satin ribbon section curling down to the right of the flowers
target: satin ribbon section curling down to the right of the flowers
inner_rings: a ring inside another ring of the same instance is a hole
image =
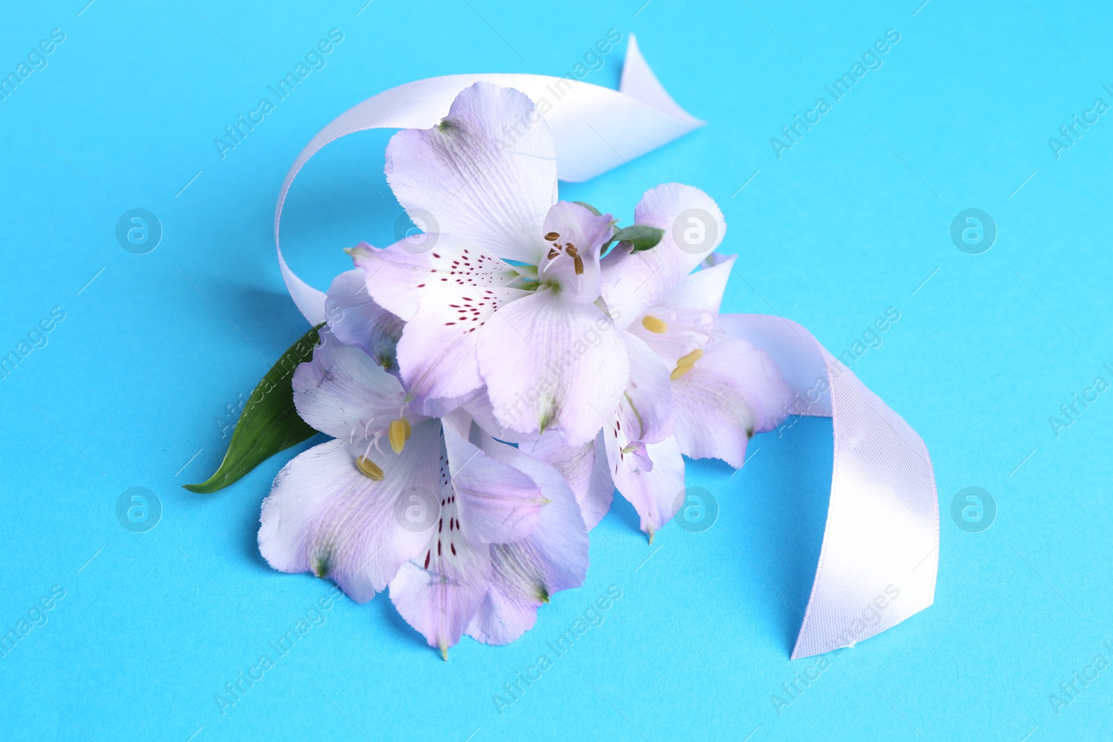
[[[731,337],[772,357],[791,413],[830,417],[827,527],[792,659],[869,639],[935,600],[939,501],[927,447],[811,333],[769,315],[720,315]]]

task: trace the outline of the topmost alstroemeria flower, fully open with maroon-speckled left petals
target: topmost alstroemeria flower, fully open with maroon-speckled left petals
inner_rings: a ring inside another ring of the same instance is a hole
[[[430,247],[349,251],[406,323],[397,360],[415,405],[451,408],[485,386],[501,426],[579,445],[618,407],[630,365],[598,303],[613,220],[556,200],[555,157],[524,93],[477,82],[440,125],[387,147],[387,181]]]

